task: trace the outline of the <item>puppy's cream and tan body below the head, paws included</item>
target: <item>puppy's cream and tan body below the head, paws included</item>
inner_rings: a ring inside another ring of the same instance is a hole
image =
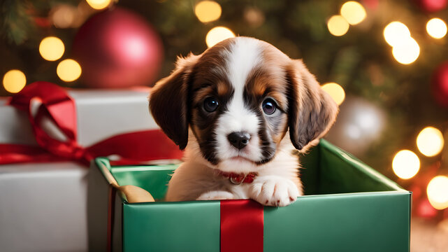
[[[254,181],[235,184],[219,175],[203,158],[198,158],[200,153],[195,153],[197,142],[190,139],[186,161],[175,170],[168,183],[166,200],[254,199],[266,205],[286,206],[303,193],[297,177],[298,156],[293,154],[294,147],[289,138],[284,139],[281,145],[273,160],[254,167]],[[238,165],[247,165],[244,162],[234,162],[233,170],[238,171]]]

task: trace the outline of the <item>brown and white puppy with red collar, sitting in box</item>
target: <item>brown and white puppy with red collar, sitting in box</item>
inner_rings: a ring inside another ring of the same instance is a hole
[[[303,194],[294,149],[333,124],[338,106],[301,60],[239,36],[178,58],[150,111],[185,149],[167,201],[253,199],[287,206]]]

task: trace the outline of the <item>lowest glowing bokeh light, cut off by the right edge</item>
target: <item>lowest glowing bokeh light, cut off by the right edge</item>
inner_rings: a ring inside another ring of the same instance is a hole
[[[448,207],[448,177],[435,176],[426,188],[429,203],[435,209],[442,210]]]

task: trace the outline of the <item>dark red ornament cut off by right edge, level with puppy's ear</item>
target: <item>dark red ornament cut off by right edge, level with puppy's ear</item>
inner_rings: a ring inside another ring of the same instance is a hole
[[[435,70],[432,81],[432,91],[435,101],[448,108],[448,62]]]

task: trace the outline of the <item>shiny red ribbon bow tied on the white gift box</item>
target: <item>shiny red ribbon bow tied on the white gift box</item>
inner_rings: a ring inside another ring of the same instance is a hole
[[[41,102],[37,111],[31,101]],[[16,162],[52,162],[75,160],[88,165],[99,156],[118,155],[115,165],[138,164],[149,160],[179,159],[182,152],[160,130],[145,130],[110,137],[92,146],[83,147],[76,141],[75,102],[66,90],[52,83],[27,85],[9,101],[11,106],[26,111],[40,146],[0,144],[0,165]],[[65,135],[62,141],[43,130],[43,120],[51,120]]]

